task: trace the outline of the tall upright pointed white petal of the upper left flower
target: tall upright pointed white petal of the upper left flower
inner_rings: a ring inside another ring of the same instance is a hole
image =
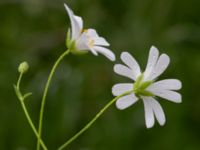
[[[65,6],[65,9],[67,10],[67,13],[71,21],[72,39],[75,40],[79,37],[82,30],[82,28],[80,28],[81,27],[80,17],[78,19],[78,16],[75,16],[73,11],[66,4],[64,4],[64,6]]]

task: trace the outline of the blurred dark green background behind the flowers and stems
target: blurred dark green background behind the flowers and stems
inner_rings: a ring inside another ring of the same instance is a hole
[[[160,77],[178,78],[182,104],[159,99],[164,127],[146,129],[142,102],[120,111],[115,106],[73,142],[71,150],[199,150],[200,149],[200,0],[0,0],[0,150],[34,150],[36,138],[17,100],[13,84],[17,67],[28,61],[23,91],[38,124],[48,73],[66,50],[70,27],[66,2],[110,43],[117,62],[129,51],[144,68],[149,48],[171,58]],[[111,87],[130,81],[113,72],[114,63],[91,53],[69,55],[53,78],[45,109],[43,138],[55,150],[79,131],[113,96]]]

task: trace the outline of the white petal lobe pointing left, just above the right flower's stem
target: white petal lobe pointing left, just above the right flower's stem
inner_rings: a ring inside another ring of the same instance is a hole
[[[125,92],[131,91],[132,89],[133,83],[119,83],[112,87],[112,93],[114,96],[118,96]]]

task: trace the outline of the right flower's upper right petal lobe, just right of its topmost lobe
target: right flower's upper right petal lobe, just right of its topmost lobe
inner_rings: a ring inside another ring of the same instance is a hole
[[[166,54],[162,54],[158,59],[155,69],[153,70],[151,79],[153,80],[157,78],[159,75],[161,75],[167,69],[169,62],[170,62],[169,56]]]

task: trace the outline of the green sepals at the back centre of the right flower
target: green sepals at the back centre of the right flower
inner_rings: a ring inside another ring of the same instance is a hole
[[[144,79],[144,75],[141,74],[140,76],[137,77],[134,85],[133,85],[133,91],[134,91],[134,94],[137,96],[137,97],[140,97],[140,96],[153,96],[153,94],[149,91],[147,91],[147,87],[149,87],[153,81],[149,80],[149,81],[143,81]]]

